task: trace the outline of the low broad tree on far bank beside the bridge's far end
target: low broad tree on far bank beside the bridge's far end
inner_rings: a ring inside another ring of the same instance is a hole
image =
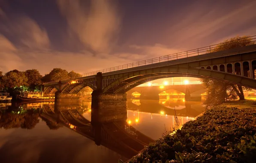
[[[43,82],[51,82],[54,80],[67,80],[69,79],[66,69],[54,68],[49,74],[46,74],[43,78]]]

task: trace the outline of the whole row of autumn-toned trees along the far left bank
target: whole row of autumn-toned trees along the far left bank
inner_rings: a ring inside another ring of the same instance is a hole
[[[53,80],[65,80],[81,77],[79,73],[74,71],[68,72],[66,69],[54,68],[49,74],[44,76],[37,69],[28,69],[26,71],[12,71],[3,74],[0,71],[0,91],[12,92],[19,91],[40,91],[40,85],[43,82],[51,82]]]

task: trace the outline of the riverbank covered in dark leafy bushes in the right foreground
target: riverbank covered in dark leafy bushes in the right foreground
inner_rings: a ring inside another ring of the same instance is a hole
[[[256,160],[255,101],[222,104],[146,147],[129,163],[244,163]],[[226,107],[226,106],[238,107]],[[253,108],[244,108],[253,106]]]

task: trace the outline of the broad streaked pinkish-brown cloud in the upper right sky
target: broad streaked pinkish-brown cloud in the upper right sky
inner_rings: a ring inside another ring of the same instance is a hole
[[[224,3],[224,2],[222,2]],[[189,14],[177,15],[177,18],[169,25],[166,33],[171,33],[171,44],[176,47],[199,48],[205,45],[223,41],[226,38],[243,35],[252,35],[255,30],[248,33],[256,19],[256,1],[242,3],[232,6],[230,9],[223,9],[222,3],[215,3],[213,6],[197,1],[191,6],[182,9]],[[247,25],[248,24],[248,25]],[[255,28],[254,23],[254,28]]]

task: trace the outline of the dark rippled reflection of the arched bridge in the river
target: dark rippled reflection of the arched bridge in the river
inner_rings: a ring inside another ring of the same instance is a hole
[[[97,111],[91,113],[91,121],[84,118],[77,109],[56,109],[51,105],[43,105],[40,117],[51,129],[67,127],[96,145],[103,145],[124,157],[130,158],[138,154],[145,145],[154,140],[127,124],[126,119],[98,122]]]

